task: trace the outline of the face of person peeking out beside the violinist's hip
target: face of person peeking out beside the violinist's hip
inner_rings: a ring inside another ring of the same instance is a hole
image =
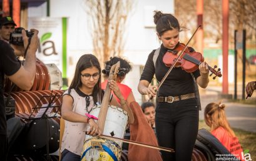
[[[141,104],[141,109],[148,120],[148,124],[152,129],[155,129],[155,104],[153,102],[144,102]]]

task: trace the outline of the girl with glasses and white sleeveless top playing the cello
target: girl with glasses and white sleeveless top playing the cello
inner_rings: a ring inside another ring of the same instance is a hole
[[[129,123],[133,122],[133,115],[121,95],[120,89],[114,80],[110,82],[110,89],[118,95],[121,108],[129,115]],[[64,134],[61,145],[61,160],[81,160],[84,130],[90,125],[89,135],[101,135],[101,129],[91,117],[92,107],[101,104],[104,91],[101,89],[101,67],[98,59],[92,54],[84,54],[76,64],[76,71],[71,85],[63,94],[61,115],[65,120]],[[113,97],[110,105],[120,107]]]

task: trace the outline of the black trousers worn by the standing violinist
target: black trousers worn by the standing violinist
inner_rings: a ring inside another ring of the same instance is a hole
[[[199,110],[196,99],[158,102],[156,107],[156,135],[161,147],[175,150],[161,151],[164,161],[191,161],[198,133]]]

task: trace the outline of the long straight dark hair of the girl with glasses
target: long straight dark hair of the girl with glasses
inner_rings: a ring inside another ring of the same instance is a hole
[[[69,89],[78,89],[78,87],[82,85],[81,71],[90,67],[96,67],[100,73],[100,78],[95,87],[93,88],[93,101],[96,104],[96,102],[101,102],[101,99],[103,98],[103,93],[101,91],[100,62],[93,54],[84,54],[79,58],[78,63],[76,64],[76,71],[74,71],[74,78],[71,82]],[[100,101],[98,100],[98,98],[100,99]]]

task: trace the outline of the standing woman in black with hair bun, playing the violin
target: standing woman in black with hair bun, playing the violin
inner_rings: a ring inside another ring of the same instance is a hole
[[[156,79],[161,81],[169,69],[163,63],[166,51],[175,51],[175,47],[180,44],[180,24],[172,14],[155,11],[154,22],[156,34],[162,42],[160,53],[155,65],[153,62],[155,50],[148,56],[138,90],[149,97],[156,97],[158,90],[155,116],[158,143],[161,147],[175,150],[175,153],[161,152],[163,160],[191,161],[199,118],[193,77],[200,87],[205,88],[209,82],[209,69],[205,62],[202,62],[192,74],[182,70],[181,67],[175,67],[159,89],[156,85],[150,85],[154,74]],[[188,49],[193,51],[192,47]]]

